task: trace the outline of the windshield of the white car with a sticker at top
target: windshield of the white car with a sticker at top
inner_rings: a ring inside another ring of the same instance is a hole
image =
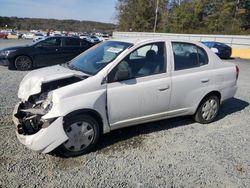
[[[74,58],[68,67],[95,75],[130,46],[132,44],[126,42],[103,42]]]

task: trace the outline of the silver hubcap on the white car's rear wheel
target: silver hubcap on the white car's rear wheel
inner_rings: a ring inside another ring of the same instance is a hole
[[[216,100],[209,99],[202,106],[201,109],[202,118],[207,121],[211,120],[215,117],[217,111],[218,111],[218,104]]]

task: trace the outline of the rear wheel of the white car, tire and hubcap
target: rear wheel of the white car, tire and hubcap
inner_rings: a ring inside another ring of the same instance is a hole
[[[211,123],[216,118],[219,109],[219,98],[216,95],[209,95],[201,101],[194,119],[201,124]]]

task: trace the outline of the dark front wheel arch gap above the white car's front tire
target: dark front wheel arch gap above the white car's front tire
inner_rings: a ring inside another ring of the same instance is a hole
[[[70,112],[69,114],[67,114],[63,120],[67,120],[69,117],[75,116],[75,115],[81,115],[81,114],[88,114],[89,116],[93,117],[94,119],[96,119],[96,121],[99,124],[99,128],[100,128],[100,133],[103,134],[103,120],[102,120],[102,116],[95,110],[93,109],[79,109],[79,110],[75,110],[73,112]]]

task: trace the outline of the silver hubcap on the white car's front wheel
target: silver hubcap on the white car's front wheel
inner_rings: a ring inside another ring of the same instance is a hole
[[[64,147],[70,151],[81,151],[88,147],[94,139],[94,129],[85,121],[71,124],[65,132],[69,139],[64,142]]]

